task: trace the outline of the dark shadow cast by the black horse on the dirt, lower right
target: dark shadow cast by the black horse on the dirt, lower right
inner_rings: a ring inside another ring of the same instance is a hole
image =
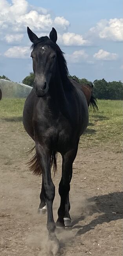
[[[109,223],[110,221],[123,219],[123,192],[114,192],[108,195],[92,197],[88,199],[88,202],[95,202],[89,215],[93,215],[96,212],[103,214],[99,215],[97,219],[92,220],[91,223],[85,226],[75,226],[75,224],[79,223],[79,221],[83,221],[83,215],[75,219],[72,223],[72,229],[78,228],[76,236],[85,234],[92,228],[94,229],[94,227],[98,224],[102,224],[104,222]]]

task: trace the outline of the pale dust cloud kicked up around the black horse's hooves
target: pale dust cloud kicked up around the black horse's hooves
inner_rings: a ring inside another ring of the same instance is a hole
[[[74,191],[75,192],[75,191]],[[70,196],[71,210],[70,215],[72,218],[71,228],[56,228],[55,234],[57,239],[52,240],[48,237],[48,230],[46,228],[47,213],[40,215],[39,226],[35,226],[33,232],[27,234],[26,244],[32,249],[38,248],[38,256],[60,256],[61,250],[64,247],[72,244],[75,241],[76,228],[75,225],[79,221],[83,221],[86,215],[89,215],[94,202],[89,202],[88,197],[81,194],[74,194]],[[55,198],[53,215],[55,221],[57,220],[57,209],[59,207],[59,198]],[[74,227],[74,228],[73,228]]]

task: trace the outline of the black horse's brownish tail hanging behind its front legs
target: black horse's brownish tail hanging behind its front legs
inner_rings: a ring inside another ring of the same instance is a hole
[[[31,150],[29,150],[27,153],[32,152],[34,148],[35,146],[31,148]],[[35,154],[27,164],[29,166],[29,170],[32,171],[33,174],[35,175],[42,174],[42,169],[40,168],[39,161],[37,159],[37,154]],[[53,166],[53,172],[55,176],[55,174],[57,173],[57,152],[56,151],[51,152],[50,168],[52,168],[52,166]]]

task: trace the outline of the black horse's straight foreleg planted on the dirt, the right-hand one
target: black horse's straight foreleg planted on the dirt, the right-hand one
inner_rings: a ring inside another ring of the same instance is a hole
[[[61,197],[61,203],[58,210],[57,226],[70,226],[71,218],[69,214],[70,202],[69,191],[70,182],[72,179],[72,165],[76,157],[78,144],[72,150],[66,152],[62,156],[62,178],[59,183],[59,195]]]

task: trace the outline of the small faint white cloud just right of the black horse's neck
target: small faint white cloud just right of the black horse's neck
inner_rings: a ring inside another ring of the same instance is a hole
[[[66,54],[66,59],[70,63],[81,63],[88,58],[88,54],[84,50],[75,51],[72,54]]]

